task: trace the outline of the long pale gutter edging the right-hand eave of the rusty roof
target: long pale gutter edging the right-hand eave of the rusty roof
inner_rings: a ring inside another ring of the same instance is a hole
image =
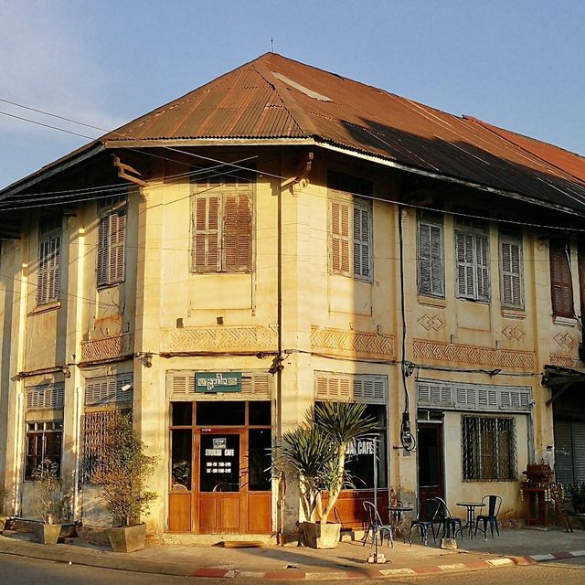
[[[355,156],[356,158],[361,158],[363,160],[369,161],[371,163],[376,163],[378,165],[389,166],[390,168],[396,168],[400,171],[406,171],[408,173],[413,173],[415,175],[420,176],[428,176],[433,179],[440,179],[441,181],[446,181],[448,183],[453,183],[455,185],[463,185],[463,186],[470,186],[474,189],[480,189],[482,191],[486,191],[487,193],[494,193],[495,195],[501,195],[502,197],[510,197],[512,199],[516,199],[518,201],[523,201],[525,203],[530,203],[531,205],[538,205],[541,207],[548,207],[549,209],[555,209],[556,211],[560,211],[562,213],[568,213],[573,216],[577,216],[582,218],[585,216],[585,213],[580,211],[576,211],[575,209],[571,209],[570,207],[563,207],[560,205],[556,205],[554,203],[549,203],[548,201],[540,201],[538,199],[534,199],[532,197],[527,197],[525,195],[520,195],[514,191],[505,191],[503,189],[496,189],[492,186],[482,185],[481,183],[473,183],[473,181],[466,181],[465,179],[457,178],[456,176],[450,175],[441,175],[441,173],[433,173],[432,171],[426,171],[424,169],[418,168],[416,166],[410,165],[402,165],[396,161],[391,161],[387,158],[383,158],[381,156],[375,156],[374,154],[366,154],[361,153],[356,150],[352,150],[349,148],[344,148],[343,146],[338,146],[336,144],[331,143],[322,143],[315,141],[315,145],[321,148],[325,148],[327,150],[334,151],[340,154],[346,154],[348,156]]]

